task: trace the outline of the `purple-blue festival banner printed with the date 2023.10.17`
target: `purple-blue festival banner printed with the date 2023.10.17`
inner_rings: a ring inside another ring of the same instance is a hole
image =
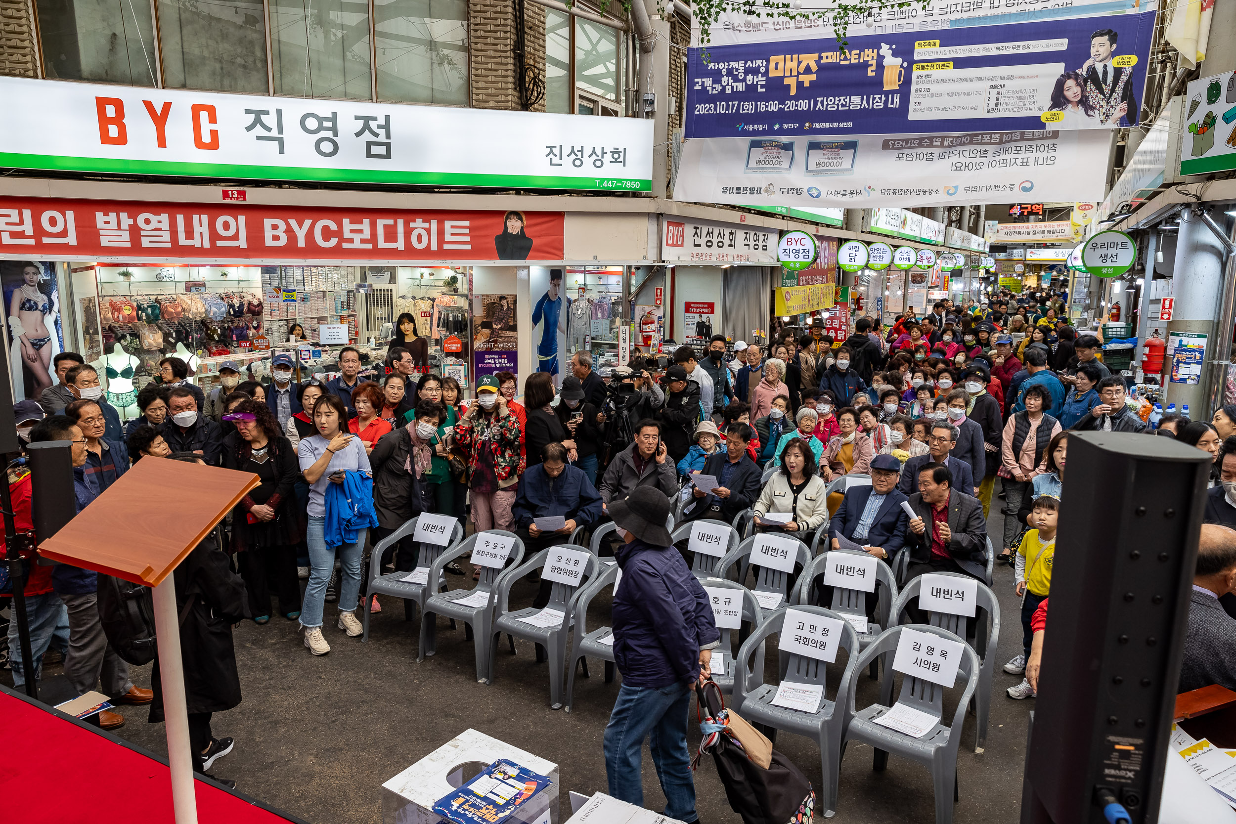
[[[1137,122],[1154,12],[692,48],[686,137]],[[928,40],[929,38],[929,40]]]

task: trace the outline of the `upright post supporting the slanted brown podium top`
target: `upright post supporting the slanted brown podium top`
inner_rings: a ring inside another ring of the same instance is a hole
[[[172,777],[176,824],[198,824],[198,799],[193,787],[189,710],[184,698],[184,663],[180,660],[180,620],[176,608],[176,577],[168,574],[154,587],[154,631],[158,639],[158,673],[163,684],[163,723],[167,725],[167,765]]]

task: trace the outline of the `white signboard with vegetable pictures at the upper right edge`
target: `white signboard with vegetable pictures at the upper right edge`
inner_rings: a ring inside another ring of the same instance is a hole
[[[1236,169],[1236,73],[1211,74],[1184,91],[1180,174]]]

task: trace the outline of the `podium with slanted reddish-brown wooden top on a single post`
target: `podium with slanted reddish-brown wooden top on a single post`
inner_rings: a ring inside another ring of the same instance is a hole
[[[250,472],[148,457],[38,546],[43,557],[153,591],[177,824],[197,824],[198,808],[172,571],[257,486]]]

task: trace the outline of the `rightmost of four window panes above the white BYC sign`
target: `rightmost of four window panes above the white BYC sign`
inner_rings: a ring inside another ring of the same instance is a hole
[[[467,1],[375,0],[378,100],[467,105]]]

